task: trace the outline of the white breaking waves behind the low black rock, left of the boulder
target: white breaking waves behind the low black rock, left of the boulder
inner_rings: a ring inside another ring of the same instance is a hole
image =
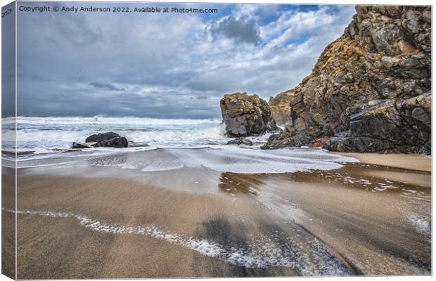
[[[3,133],[13,134],[13,119],[3,119],[2,123]],[[224,136],[219,119],[18,117],[17,148],[19,151],[40,152],[53,148],[68,149],[73,142],[83,143],[87,136],[108,131],[125,136],[132,146],[148,145],[155,148],[224,145],[231,139]],[[11,148],[13,144],[4,142],[4,147]]]

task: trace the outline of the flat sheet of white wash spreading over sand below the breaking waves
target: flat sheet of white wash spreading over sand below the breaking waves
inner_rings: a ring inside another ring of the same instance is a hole
[[[293,148],[259,150],[234,148],[139,148],[120,151],[115,148],[20,157],[18,168],[37,166],[119,166],[143,172],[181,168],[206,168],[238,174],[281,174],[296,171],[332,170],[344,163],[358,162],[319,149]]]

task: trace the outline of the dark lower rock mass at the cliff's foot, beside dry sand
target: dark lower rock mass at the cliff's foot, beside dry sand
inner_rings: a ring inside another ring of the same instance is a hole
[[[427,153],[431,151],[431,93],[407,100],[386,100],[350,117],[350,130],[326,143],[348,152]]]

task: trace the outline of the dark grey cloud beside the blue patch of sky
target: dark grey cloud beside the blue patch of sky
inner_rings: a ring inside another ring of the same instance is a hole
[[[219,21],[212,22],[207,28],[212,38],[217,40],[222,37],[232,39],[237,43],[258,44],[260,41],[259,28],[255,20],[237,20],[232,15]]]

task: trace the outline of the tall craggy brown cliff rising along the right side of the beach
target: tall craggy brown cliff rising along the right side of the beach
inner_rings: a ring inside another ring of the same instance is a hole
[[[357,152],[431,153],[431,8],[357,6],[290,99],[294,132],[265,149],[310,145]]]

